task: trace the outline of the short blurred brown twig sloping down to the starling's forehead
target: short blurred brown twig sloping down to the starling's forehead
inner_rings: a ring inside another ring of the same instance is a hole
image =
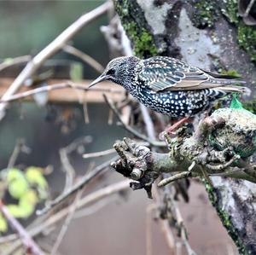
[[[102,67],[99,62],[97,62],[90,55],[85,54],[83,51],[76,49],[71,45],[65,45],[62,47],[62,49],[68,54],[75,55],[76,57],[90,65],[90,67],[93,67],[97,72],[102,73],[104,71],[104,67]]]

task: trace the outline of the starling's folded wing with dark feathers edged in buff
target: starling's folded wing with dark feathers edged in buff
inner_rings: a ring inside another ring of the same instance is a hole
[[[202,90],[228,84],[225,79],[214,78],[197,67],[169,57],[152,57],[143,61],[139,78],[151,90]]]

